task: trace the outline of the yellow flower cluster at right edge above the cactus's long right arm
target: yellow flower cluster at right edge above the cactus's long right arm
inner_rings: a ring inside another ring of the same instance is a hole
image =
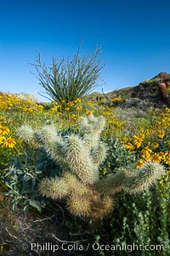
[[[156,127],[153,130],[153,127]],[[122,143],[129,150],[134,150],[139,156],[137,166],[143,166],[145,161],[154,161],[170,165],[170,108],[161,113],[161,119],[152,127],[140,127],[139,134],[132,138],[122,137]]]

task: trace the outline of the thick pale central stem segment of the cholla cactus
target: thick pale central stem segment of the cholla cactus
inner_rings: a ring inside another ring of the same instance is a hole
[[[71,135],[65,140],[62,150],[71,172],[75,173],[82,183],[93,184],[98,180],[99,170],[94,166],[81,138]]]

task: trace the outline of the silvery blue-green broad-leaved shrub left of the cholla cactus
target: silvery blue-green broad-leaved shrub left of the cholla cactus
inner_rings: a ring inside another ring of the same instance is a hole
[[[27,145],[22,154],[12,157],[3,172],[3,184],[8,189],[5,195],[12,198],[13,211],[16,212],[20,206],[25,213],[29,207],[42,212],[46,201],[39,193],[38,184],[42,178],[53,177],[59,172],[59,166],[40,148]]]

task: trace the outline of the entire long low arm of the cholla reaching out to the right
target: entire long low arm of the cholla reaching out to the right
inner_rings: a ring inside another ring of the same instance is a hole
[[[99,180],[95,187],[104,195],[113,195],[121,190],[135,194],[149,188],[164,173],[165,168],[161,164],[148,162],[138,169],[133,166],[129,166],[127,170],[119,169],[115,174]]]

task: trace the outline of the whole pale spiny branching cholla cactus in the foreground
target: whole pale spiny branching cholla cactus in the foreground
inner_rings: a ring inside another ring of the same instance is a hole
[[[149,162],[139,169],[128,166],[99,178],[99,165],[105,160],[107,151],[100,140],[105,118],[91,114],[80,118],[79,125],[79,135],[65,137],[59,135],[54,125],[45,125],[38,131],[32,131],[28,126],[20,128],[22,139],[30,139],[44,148],[62,167],[61,177],[42,180],[39,186],[42,195],[65,200],[73,215],[102,217],[111,212],[117,192],[138,193],[164,174],[163,166]]]

